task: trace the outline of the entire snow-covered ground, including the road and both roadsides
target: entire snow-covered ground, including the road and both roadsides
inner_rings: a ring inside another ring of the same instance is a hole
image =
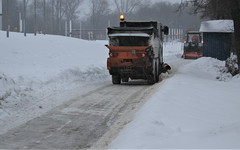
[[[107,41],[0,38],[1,149],[239,148],[240,76],[224,61],[166,43],[163,80],[112,85]]]

